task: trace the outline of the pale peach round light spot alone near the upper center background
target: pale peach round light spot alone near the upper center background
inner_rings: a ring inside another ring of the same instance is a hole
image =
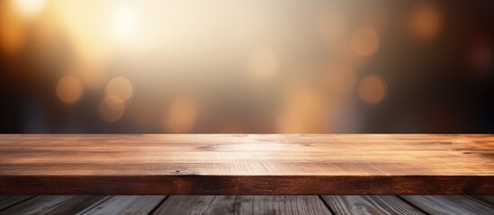
[[[248,60],[248,73],[256,80],[263,81],[273,77],[278,71],[278,57],[267,48],[256,50]]]

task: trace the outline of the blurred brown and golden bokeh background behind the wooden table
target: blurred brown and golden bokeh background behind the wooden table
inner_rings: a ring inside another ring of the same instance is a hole
[[[494,1],[4,0],[0,133],[494,133]]]

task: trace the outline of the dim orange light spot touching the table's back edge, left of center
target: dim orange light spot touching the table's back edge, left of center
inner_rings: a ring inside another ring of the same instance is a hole
[[[198,112],[199,107],[193,99],[188,97],[175,98],[166,114],[166,129],[172,133],[189,132]]]

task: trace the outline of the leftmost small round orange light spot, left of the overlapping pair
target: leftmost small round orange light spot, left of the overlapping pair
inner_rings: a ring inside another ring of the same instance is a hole
[[[74,103],[81,98],[82,83],[74,76],[65,76],[57,83],[58,98],[67,103]]]

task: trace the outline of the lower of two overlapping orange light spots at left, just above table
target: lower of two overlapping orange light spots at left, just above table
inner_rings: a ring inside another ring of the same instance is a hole
[[[125,106],[116,96],[107,96],[100,103],[100,116],[108,123],[118,121],[123,116]]]

